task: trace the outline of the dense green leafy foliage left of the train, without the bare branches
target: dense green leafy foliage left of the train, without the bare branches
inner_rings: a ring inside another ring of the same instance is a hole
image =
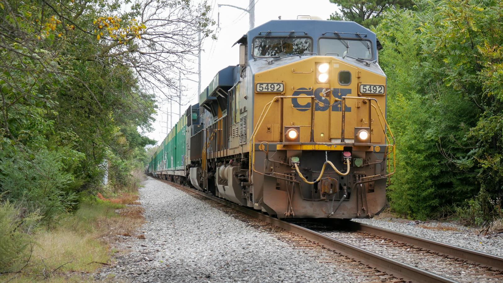
[[[0,3],[0,193],[49,224],[102,188],[107,167],[112,184],[127,185],[155,143],[139,132],[155,97],[130,54],[147,26],[133,20],[139,4],[123,13],[117,1]]]

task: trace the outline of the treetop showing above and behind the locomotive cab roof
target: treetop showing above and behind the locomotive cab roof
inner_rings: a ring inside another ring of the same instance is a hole
[[[388,8],[411,8],[411,0],[330,0],[336,4],[340,12],[330,15],[330,20],[353,21],[364,27],[376,26],[381,15]]]

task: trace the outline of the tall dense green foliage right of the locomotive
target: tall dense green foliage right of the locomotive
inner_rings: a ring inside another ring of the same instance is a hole
[[[503,190],[503,4],[417,6],[386,12],[375,28],[397,137],[390,204],[410,218],[438,217],[456,205],[487,220],[493,212],[477,206],[481,195],[500,203]]]

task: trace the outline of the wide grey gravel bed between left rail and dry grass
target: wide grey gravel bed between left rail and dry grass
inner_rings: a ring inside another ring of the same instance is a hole
[[[145,239],[127,237],[98,280],[131,282],[355,282],[351,271],[246,225],[148,177],[140,189]],[[142,238],[142,237],[140,237]]]

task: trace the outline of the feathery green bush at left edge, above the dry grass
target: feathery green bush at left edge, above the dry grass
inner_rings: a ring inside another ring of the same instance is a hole
[[[64,148],[4,156],[0,161],[4,198],[17,202],[28,214],[37,213],[44,223],[53,223],[75,204],[76,194],[70,190],[75,180],[65,169],[81,158],[82,154]]]

